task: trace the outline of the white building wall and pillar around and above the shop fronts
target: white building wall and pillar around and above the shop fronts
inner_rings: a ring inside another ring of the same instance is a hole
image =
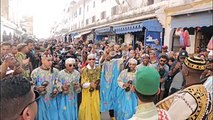
[[[149,3],[152,0],[117,1],[119,2],[116,2],[116,0],[103,0],[103,2],[102,0],[79,0],[74,5],[72,4],[69,11],[70,32],[84,32],[91,30],[91,28],[96,29],[112,24],[125,24],[156,17],[165,28],[164,45],[167,45],[171,50],[174,33],[174,29],[171,28],[171,14],[212,3],[211,0],[153,0],[154,4]],[[93,7],[94,2],[95,6]],[[79,8],[81,8],[81,14],[79,14]],[[113,10],[116,11],[113,12]],[[105,19],[101,19],[103,11],[106,12]],[[93,16],[95,16],[95,21],[92,21]],[[126,38],[129,37],[130,35],[127,34]],[[190,38],[191,47],[187,49],[192,52],[195,37],[190,36]],[[128,40],[125,41],[129,42]]]

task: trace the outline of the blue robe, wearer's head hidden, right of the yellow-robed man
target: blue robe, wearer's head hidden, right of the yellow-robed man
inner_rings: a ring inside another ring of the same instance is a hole
[[[106,112],[115,108],[115,89],[118,86],[117,78],[119,72],[117,60],[103,63],[100,79],[101,112]]]

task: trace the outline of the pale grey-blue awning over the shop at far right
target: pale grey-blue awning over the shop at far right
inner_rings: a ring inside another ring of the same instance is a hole
[[[171,28],[211,26],[213,21],[212,13],[213,10],[173,16],[171,21]]]

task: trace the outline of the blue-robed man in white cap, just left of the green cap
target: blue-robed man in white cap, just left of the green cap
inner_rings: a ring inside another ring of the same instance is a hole
[[[132,117],[137,106],[136,94],[132,91],[135,82],[137,60],[131,58],[129,68],[121,71],[118,77],[117,100],[115,117],[117,120],[126,120]]]

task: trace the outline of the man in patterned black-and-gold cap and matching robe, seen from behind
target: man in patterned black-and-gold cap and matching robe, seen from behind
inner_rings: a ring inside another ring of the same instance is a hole
[[[200,57],[188,57],[184,60],[183,89],[157,104],[159,108],[168,110],[172,120],[212,120],[209,118],[212,111],[211,96],[205,86],[200,84],[200,76],[205,69],[206,61]]]

